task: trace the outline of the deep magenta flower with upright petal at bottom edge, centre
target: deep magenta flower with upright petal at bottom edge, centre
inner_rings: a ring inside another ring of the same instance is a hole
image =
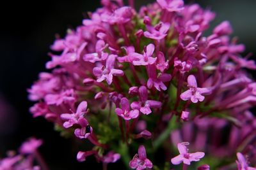
[[[146,149],[143,145],[140,145],[138,149],[138,154],[134,155],[133,159],[130,161],[129,166],[132,169],[141,170],[146,168],[152,168],[152,162],[147,159]]]

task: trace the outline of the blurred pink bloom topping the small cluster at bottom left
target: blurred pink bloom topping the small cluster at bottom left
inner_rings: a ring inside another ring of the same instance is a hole
[[[20,146],[20,153],[29,154],[34,153],[36,149],[41,146],[43,141],[41,139],[30,138]]]

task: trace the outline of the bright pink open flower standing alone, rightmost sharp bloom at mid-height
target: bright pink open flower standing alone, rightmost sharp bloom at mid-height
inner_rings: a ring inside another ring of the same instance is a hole
[[[196,78],[193,75],[188,76],[188,87],[189,90],[186,90],[182,94],[180,94],[180,99],[184,101],[188,101],[191,99],[193,103],[197,103],[198,101],[204,101],[204,96],[202,94],[208,94],[211,92],[208,88],[199,88],[197,87]]]

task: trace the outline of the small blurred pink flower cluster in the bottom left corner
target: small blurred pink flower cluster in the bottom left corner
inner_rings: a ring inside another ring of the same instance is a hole
[[[45,169],[42,157],[37,148],[42,145],[41,139],[30,138],[22,143],[19,148],[19,154],[14,151],[8,152],[8,157],[0,159],[1,170],[40,170]],[[38,162],[41,166],[34,166],[34,162]]]

